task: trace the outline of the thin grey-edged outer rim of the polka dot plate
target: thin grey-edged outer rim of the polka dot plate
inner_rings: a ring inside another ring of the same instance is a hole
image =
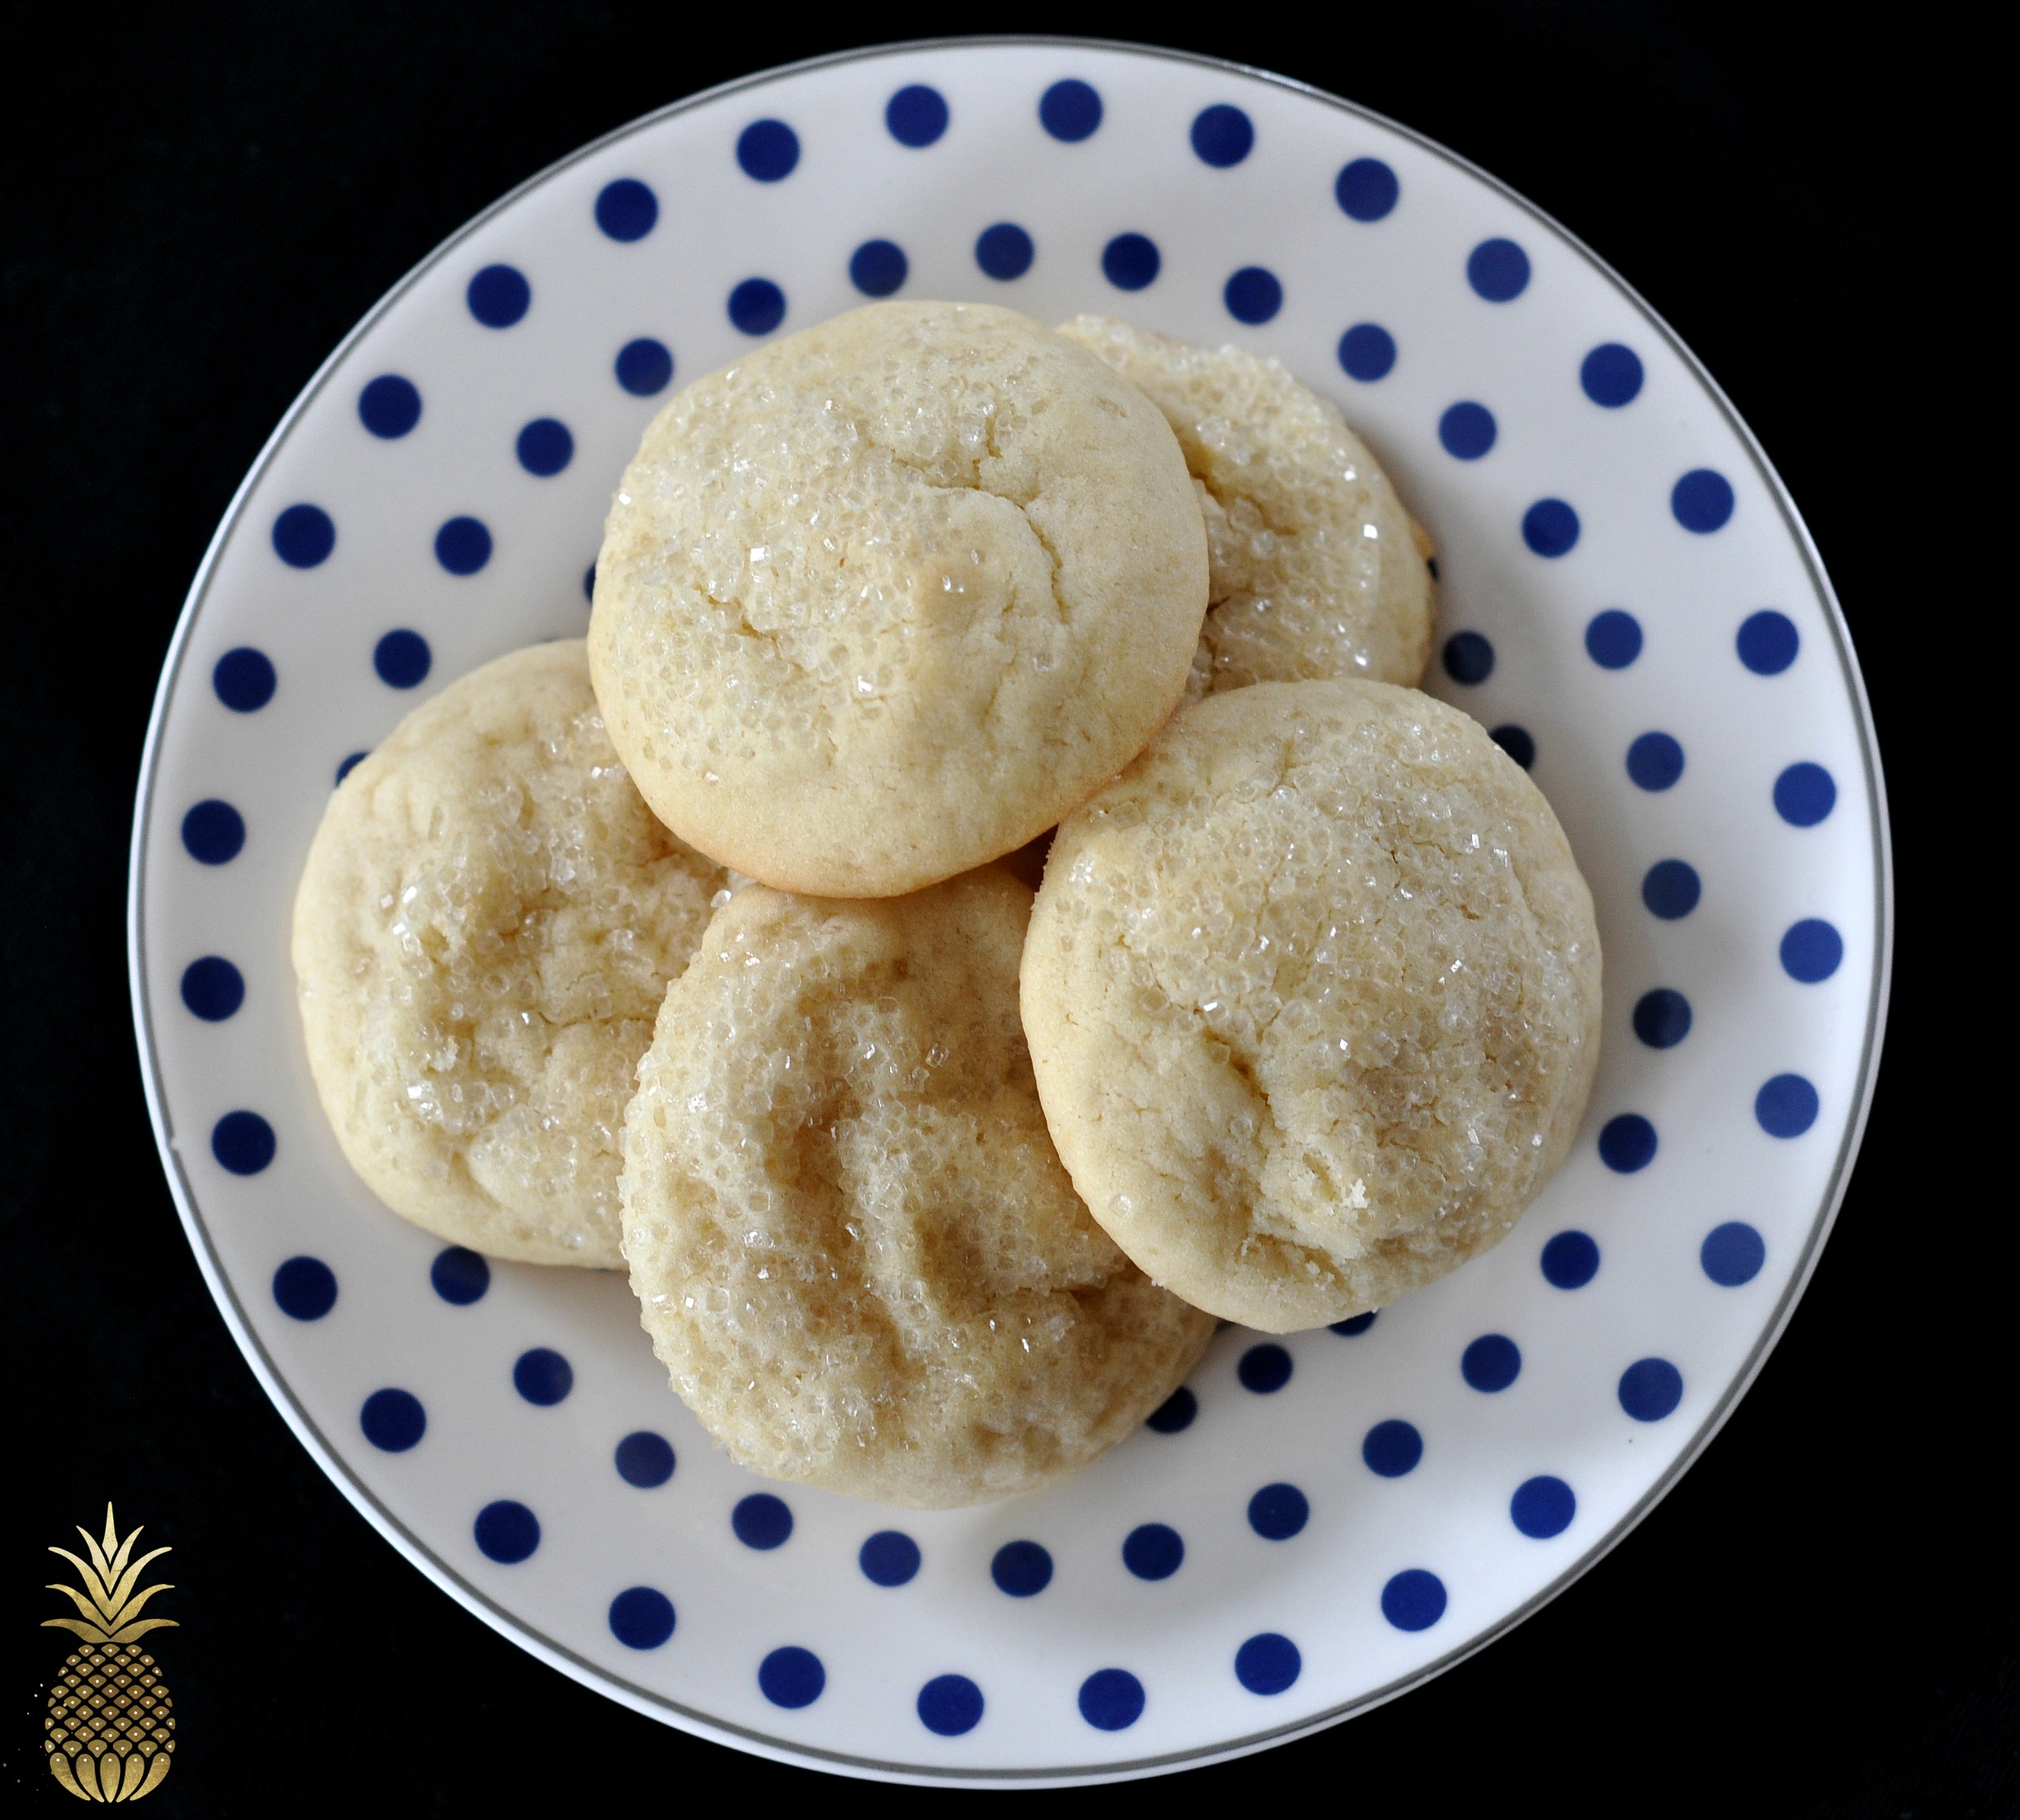
[[[1776,1305],[1772,1317],[1763,1323],[1759,1335],[1753,1341],[1741,1368],[1727,1382],[1725,1390],[1713,1404],[1711,1412],[1699,1424],[1697,1432],[1685,1442],[1677,1458],[1671,1460],[1669,1469],[1656,1479],[1648,1491],[1632,1505],[1632,1509],[1622,1515],[1612,1529],[1606,1531],[1598,1541],[1594,1541],[1576,1561],[1572,1561],[1555,1580],[1543,1586],[1539,1592],[1531,1594],[1515,1610],[1497,1618],[1491,1626],[1462,1642],[1454,1644],[1442,1656],[1426,1662],[1420,1669],[1412,1669],[1408,1675],[1400,1675],[1378,1689],[1343,1701],[1337,1707],[1329,1707],[1323,1713],[1315,1713],[1305,1719],[1287,1721],[1283,1725],[1265,1727],[1260,1731],[1244,1733],[1240,1737],[1204,1743],[1190,1749],[1162,1751],[1149,1757],[1137,1757],[1123,1763],[1063,1763],[1054,1767],[988,1767],[988,1765],[939,1765],[939,1763],[899,1763],[883,1757],[852,1755],[846,1751],[822,1749],[818,1745],[796,1743],[790,1739],[776,1737],[755,1727],[743,1727],[727,1719],[717,1719],[707,1713],[697,1713],[679,1701],[667,1699],[665,1695],[650,1693],[636,1683],[626,1681],[622,1675],[614,1675],[578,1656],[574,1650],[543,1636],[523,1618],[513,1616],[509,1610],[499,1606],[469,1580],[465,1580],[454,1568],[434,1555],[426,1543],[420,1541],[412,1531],[408,1531],[376,1497],[374,1493],[351,1473],[349,1464],[341,1454],[323,1438],[315,1420],[301,1408],[295,1394],[289,1390],[287,1382],[281,1378],[273,1359],[269,1359],[265,1347],[255,1335],[238,1295],[230,1281],[218,1267],[216,1252],[210,1246],[210,1234],[204,1226],[202,1212],[196,1204],[196,1196],[190,1192],[188,1178],[182,1172],[182,1159],[176,1151],[174,1137],[168,1125],[166,1101],[160,1081],[160,1056],[154,1044],[154,1024],[147,1012],[147,968],[141,951],[141,909],[145,897],[145,877],[147,877],[147,854],[145,836],[149,828],[149,812],[154,808],[154,784],[156,770],[162,749],[162,731],[168,715],[168,701],[174,687],[182,675],[182,665],[186,648],[190,642],[190,632],[194,630],[196,618],[204,606],[210,592],[212,572],[216,570],[218,555],[224,549],[224,541],[230,531],[238,525],[244,513],[246,501],[259,481],[265,477],[267,469],[273,465],[281,446],[293,434],[299,418],[307,412],[309,404],[323,392],[329,384],[333,372],[351,351],[354,343],[364,339],[364,335],[386,317],[392,307],[406,297],[414,285],[444,263],[465,240],[469,240],[479,228],[489,220],[503,214],[521,196],[531,194],[549,180],[558,178],[562,172],[578,166],[596,154],[632,137],[634,133],[648,131],[661,121],[673,119],[675,115],[687,113],[691,109],[721,101],[729,95],[749,89],[770,87],[788,77],[806,75],[816,69],[834,69],[848,63],[867,63],[879,59],[897,59],[905,55],[915,55],[921,50],[1000,50],[1000,48],[1044,48],[1058,46],[1067,50],[1103,50],[1119,53],[1125,57],[1137,57],[1145,61],[1162,63],[1182,63],[1196,69],[1226,71],[1250,81],[1267,83],[1275,89],[1285,89],[1293,95],[1301,95],[1309,101],[1319,101],[1325,107],[1337,109],[1353,119],[1374,123],[1386,131],[1398,133],[1402,139],[1410,141],[1418,149],[1454,166],[1462,174],[1483,182],[1489,190],[1503,196],[1507,202],[1515,204],[1523,214],[1535,220],[1545,232],[1555,234],[1566,242],[1576,255],[1586,259],[1602,277],[1612,283],[1626,303],[1640,313],[1642,321],[1652,329],[1669,347],[1675,351],[1691,372],[1691,376],[1705,388],[1711,402],[1717,406],[1719,414],[1725,418],[1731,432],[1739,438],[1747,459],[1753,465],[1755,475],[1768,487],[1774,499],[1776,511],[1796,549],[1802,555],[1804,570],[1810,576],[1824,604],[1824,620],[1830,630],[1832,654],[1838,663],[1838,675],[1844,683],[1846,695],[1852,703],[1852,717],[1858,733],[1858,755],[1860,768],[1866,782],[1866,804],[1868,804],[1868,838],[1875,858],[1875,941],[1873,941],[1873,974],[1866,984],[1866,1016],[1864,1016],[1864,1036],[1860,1044],[1858,1071],[1854,1077],[1854,1093],[1850,1115],[1844,1121],[1842,1137],[1838,1141],[1838,1153],[1832,1159],[1830,1180],[1824,1188],[1824,1196],[1818,1204],[1816,1214],[1810,1220],[1808,1232],[1804,1236],[1802,1254],[1796,1260],[1796,1269],[1790,1275],[1788,1285],[1782,1291],[1782,1299]],[[170,1196],[176,1202],[176,1212],[182,1218],[182,1228],[190,1240],[190,1250],[196,1254],[198,1269],[202,1271],[204,1285],[210,1291],[210,1299],[216,1303],[218,1313],[224,1317],[224,1325],[238,1345],[240,1355],[246,1366],[250,1366],[252,1376],[259,1380],[261,1390],[267,1392],[267,1400],[275,1406],[287,1426],[293,1430],[295,1438],[309,1452],[309,1458],[323,1471],[323,1475],[335,1485],[339,1493],[351,1503],[351,1507],[400,1553],[410,1565],[414,1565],[422,1576],[426,1576],[436,1588],[440,1588],[459,1606],[479,1618],[483,1624],[491,1626],[499,1636],[507,1638],[515,1646],[527,1650],[537,1660],[545,1662],[549,1669],[570,1677],[572,1681],[588,1687],[594,1693],[614,1699],[646,1719],[656,1719],[663,1725],[673,1725],[681,1731],[705,1737],[711,1743],[729,1745],[731,1749],[753,1751],[774,1761],[794,1763],[798,1767],[828,1770],[842,1776],[856,1776],[879,1782],[905,1782],[917,1786],[937,1786],[937,1788],[976,1788],[976,1786],[1012,1786],[1012,1788],[1063,1788],[1063,1786],[1093,1786],[1101,1782],[1127,1782],[1157,1774],[1170,1774],[1176,1770],[1204,1767],[1208,1763],[1220,1763],[1234,1757],[1244,1757],[1254,1751],[1269,1749],[1279,1743],[1289,1743],[1297,1737],[1307,1737],[1327,1727],[1339,1725],[1345,1719],[1368,1713],[1398,1695],[1404,1695],[1434,1677],[1458,1666],[1469,1656],[1497,1642],[1509,1630],[1513,1630],[1523,1620],[1531,1618],[1559,1594],[1563,1594],[1574,1582],[1582,1580],[1592,1568],[1606,1559],[1640,1523],[1648,1513],[1677,1487],[1683,1475],[1697,1462],[1705,1452],[1717,1432],[1731,1418],[1731,1412],[1739,1406],[1739,1400],[1751,1390],[1753,1380],[1759,1376],[1761,1368],[1768,1363],[1768,1355],[1780,1343],[1790,1319],[1796,1313],[1796,1305],[1802,1301],[1804,1291],[1810,1285],[1810,1277],[1816,1273],[1818,1258],[1822,1256],[1824,1244],[1836,1226],[1838,1210],[1844,1202],[1844,1194],[1850,1186],[1852,1166],[1858,1157],[1858,1147],[1864,1139],[1866,1121],[1873,1111],[1873,1097],[1879,1083],[1879,1058],[1887,1032],[1887,1010],[1893,984],[1893,937],[1895,937],[1895,877],[1893,877],[1893,840],[1887,816],[1887,786],[1881,770],[1879,755],[1879,735],[1873,723],[1873,707],[1866,699],[1864,677],[1858,669],[1858,659],[1852,650],[1850,626],[1844,620],[1844,610],[1838,604],[1836,590],[1830,584],[1830,574],[1824,568],[1822,553],[1816,541],[1810,537],[1810,529],[1802,519],[1782,475],[1776,471],[1774,463],[1768,459],[1765,448],[1761,448],[1753,430],[1747,426],[1745,418],[1727,398],[1725,388],[1705,370],[1703,362],[1691,351],[1689,343],[1664,321],[1664,317],[1636,291],[1614,267],[1594,252],[1578,234],[1566,228],[1555,216],[1539,208],[1511,184],[1493,176],[1493,172],[1483,170],[1473,160],[1452,151],[1448,145],[1404,125],[1402,121],[1390,119],[1388,115],[1366,107],[1357,101],[1349,101],[1341,95],[1333,95],[1327,89],[1319,89],[1311,83],[1299,81],[1295,77],[1277,75],[1275,71],[1256,69],[1254,65],[1236,63],[1224,57],[1208,57],[1194,50],[1178,50],[1162,44],[1139,44],[1125,38],[1085,38],[1073,34],[1054,32],[990,32],[976,36],[939,36],[939,38],[905,38],[885,44],[863,44],[848,50],[832,50],[820,57],[806,57],[796,63],[774,65],[749,75],[733,77],[729,81],[717,83],[715,87],[701,89],[693,95],[683,95],[669,101],[650,113],[638,115],[636,119],[624,121],[578,145],[574,151],[564,154],[541,170],[533,172],[523,182],[515,184],[487,208],[473,214],[467,222],[454,228],[446,238],[442,238],[434,248],[430,248],[420,261],[416,261],[337,341],[337,345],[323,358],[323,362],[309,376],[307,384],[283,412],[281,420],[275,424],[273,432],[261,444],[259,454],[246,469],[244,479],[232,491],[230,501],[218,519],[216,531],[212,531],[208,545],[204,547],[202,562],[190,582],[190,590],[184,596],[182,612],[176,618],[176,630],[170,638],[168,652],[162,659],[162,677],[156,685],[154,705],[147,715],[147,735],[141,745],[139,778],[135,786],[133,800],[133,832],[129,840],[127,858],[127,984],[133,1004],[133,1036],[139,1050],[139,1071],[141,1089],[147,1099],[147,1121],[154,1129],[156,1149],[162,1157],[162,1170],[168,1178]]]

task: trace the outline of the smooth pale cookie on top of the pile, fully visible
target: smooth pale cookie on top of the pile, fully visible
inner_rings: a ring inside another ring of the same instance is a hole
[[[685,840],[889,897],[1052,826],[1186,687],[1206,535],[1131,384],[980,303],[873,303],[751,351],[644,432],[590,665]]]

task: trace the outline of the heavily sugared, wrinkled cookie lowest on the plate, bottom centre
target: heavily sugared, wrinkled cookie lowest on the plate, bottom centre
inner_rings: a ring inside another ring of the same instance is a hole
[[[1212,1337],[1058,1166],[1018,1026],[1028,917],[1000,867],[873,903],[751,887],[667,992],[624,1254],[673,1388],[745,1467],[1008,1497],[1129,1434]]]

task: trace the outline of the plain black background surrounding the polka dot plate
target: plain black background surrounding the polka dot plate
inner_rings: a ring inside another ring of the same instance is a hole
[[[1935,723],[1903,622],[1911,646],[1937,630],[1921,570],[1957,533],[1931,525],[1925,481],[1891,479],[1933,436],[1899,353],[1941,335],[1911,295],[1937,232],[1911,141],[1951,99],[1915,50],[1848,22],[1794,32],[1763,6],[1228,12],[1212,28],[1099,4],[982,24],[1301,77],[1477,160],[1610,259],[1717,374],[1808,515],[1866,665],[1899,877],[1943,877]],[[67,1648],[36,1628],[57,1610],[42,1549],[107,1497],[176,1547],[164,1568],[186,1628],[160,1646],[184,1743],[152,1812],[315,1794],[416,1814],[549,1790],[681,1802],[727,1778],[741,1798],[838,1794],[539,1666],[408,1568],[295,1444],[204,1293],[154,1155],[125,856],[156,675],[204,543],[380,293],[638,113],[794,57],[943,32],[945,16],[814,28],[755,4],[529,0],[4,16],[0,1802],[69,1800],[40,1751],[42,1685]],[[1945,38],[1939,24],[1923,16],[1913,42]],[[1994,1208],[1931,1161],[1965,1135],[1931,1065],[1931,939],[1949,937],[1907,883],[1889,1065],[1836,1236],[1683,1485],[1483,1656],[1347,1727],[1194,1772],[1188,1794],[2020,1808],[1994,1493],[2012,1420],[1982,1390],[2006,1299],[1992,1273],[1945,1262]]]

